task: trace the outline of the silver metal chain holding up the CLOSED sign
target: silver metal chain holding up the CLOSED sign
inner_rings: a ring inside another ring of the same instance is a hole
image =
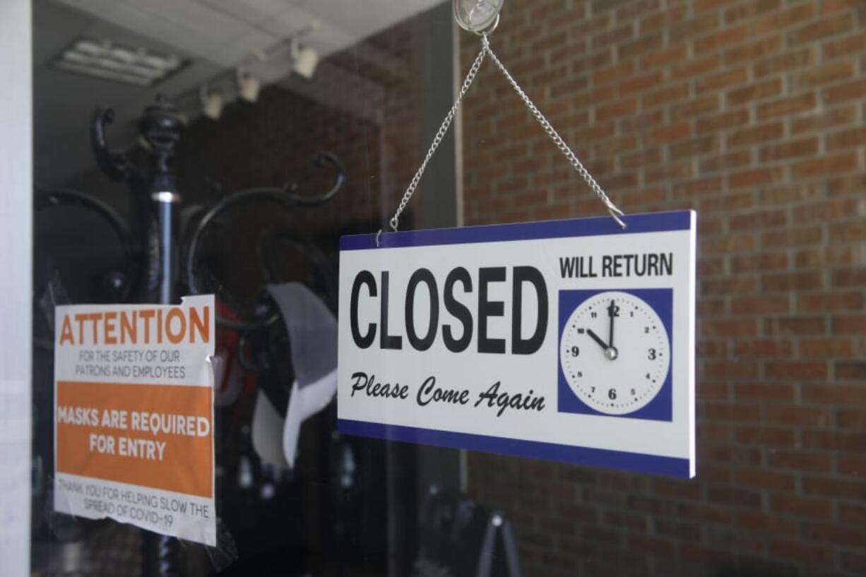
[[[469,68],[469,73],[467,73],[466,78],[463,79],[462,87],[460,88],[460,93],[457,94],[457,98],[454,101],[454,104],[451,106],[451,109],[448,112],[448,115],[445,116],[445,120],[442,122],[442,126],[439,126],[439,130],[436,132],[436,136],[433,138],[433,142],[430,144],[430,150],[427,151],[427,156],[424,157],[421,166],[418,167],[415,176],[412,177],[412,181],[409,183],[409,186],[406,187],[406,191],[403,195],[403,198],[400,199],[400,204],[397,206],[397,211],[394,212],[394,216],[391,217],[391,229],[395,232],[397,231],[397,226],[399,225],[399,218],[403,211],[406,209],[406,205],[409,204],[410,198],[415,193],[415,189],[417,189],[418,183],[421,182],[421,177],[423,176],[424,169],[427,168],[427,164],[430,162],[430,159],[433,158],[434,152],[436,152],[436,148],[439,147],[439,144],[442,142],[442,139],[445,136],[445,133],[448,132],[449,126],[451,126],[451,122],[454,121],[454,117],[457,113],[457,108],[460,107],[460,102],[463,100],[463,96],[469,91],[469,87],[472,86],[472,81],[475,80],[475,75],[478,74],[479,68],[481,68],[481,63],[484,62],[484,57],[486,55],[490,55],[490,59],[496,64],[496,67],[501,70],[501,73],[505,75],[507,81],[511,84],[514,91],[520,96],[520,100],[523,100],[523,103],[527,106],[530,113],[533,114],[535,120],[541,125],[541,128],[547,133],[547,136],[553,140],[553,144],[559,148],[559,151],[565,154],[565,158],[568,159],[568,162],[574,166],[575,170],[578,171],[578,174],[585,180],[586,184],[589,185],[591,191],[593,191],[596,196],[604,203],[604,206],[607,207],[607,211],[611,213],[611,217],[619,223],[620,226],[625,228],[625,223],[620,216],[623,216],[623,211],[620,211],[617,208],[616,204],[613,204],[610,198],[604,193],[601,186],[598,185],[595,178],[592,178],[592,175],[589,171],[586,170],[585,166],[580,162],[577,155],[572,151],[572,149],[565,144],[565,140],[559,136],[559,133],[556,132],[556,129],[553,128],[550,121],[545,118],[545,115],[541,113],[541,111],[533,104],[533,101],[529,99],[527,93],[523,92],[523,89],[520,88],[520,85],[517,81],[514,80],[514,77],[510,75],[505,68],[505,66],[500,62],[499,58],[493,52],[493,49],[490,48],[490,41],[488,40],[488,36],[486,34],[481,36],[481,50],[478,52],[478,55],[475,56],[475,62],[472,62],[472,66]],[[382,234],[382,230],[378,231],[376,235],[376,244],[378,246],[379,243],[379,235]]]

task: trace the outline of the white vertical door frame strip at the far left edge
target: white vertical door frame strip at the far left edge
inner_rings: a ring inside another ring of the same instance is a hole
[[[30,573],[33,47],[29,0],[0,0],[0,560]]]

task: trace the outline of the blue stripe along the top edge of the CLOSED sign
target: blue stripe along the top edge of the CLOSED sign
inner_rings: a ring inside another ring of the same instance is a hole
[[[623,229],[611,217],[569,218],[534,223],[488,224],[456,229],[407,230],[385,232],[380,248],[436,244],[496,243],[501,241],[535,240],[540,238],[595,237],[598,235],[629,235],[641,232],[688,230],[694,211],[653,212],[623,217],[628,227]],[[340,237],[339,250],[376,248],[376,235]]]

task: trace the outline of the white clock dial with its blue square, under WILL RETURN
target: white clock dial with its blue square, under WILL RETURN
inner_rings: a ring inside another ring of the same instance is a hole
[[[570,390],[577,401],[560,411],[669,420],[669,297],[669,289],[560,291],[560,396]]]

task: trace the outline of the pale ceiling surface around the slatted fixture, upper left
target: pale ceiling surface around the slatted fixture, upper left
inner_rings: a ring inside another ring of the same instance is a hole
[[[279,46],[317,21],[302,37],[321,57],[358,44],[443,0],[37,0],[34,2],[36,178],[56,185],[92,166],[87,126],[96,106],[112,106],[116,146],[134,138],[134,120],[157,92],[190,100],[204,82],[236,68],[256,51]],[[75,39],[109,40],[191,61],[152,89],[69,75],[48,62]],[[369,52],[367,49],[366,52]],[[285,51],[283,51],[285,52]],[[253,64],[265,82],[288,76],[288,60]],[[362,55],[363,56],[363,55]],[[391,66],[387,55],[381,66]],[[326,66],[326,65],[325,65]],[[299,86],[292,79],[287,86]]]

